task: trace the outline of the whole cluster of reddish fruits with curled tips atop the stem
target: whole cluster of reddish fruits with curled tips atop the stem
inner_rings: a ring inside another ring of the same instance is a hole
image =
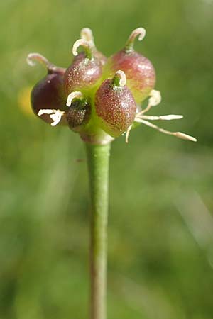
[[[81,38],[72,48],[74,59],[70,67],[56,67],[38,53],[28,55],[28,63],[43,63],[48,74],[31,93],[33,111],[52,126],[68,125],[80,133],[83,140],[103,144],[126,133],[133,123],[144,123],[163,133],[195,140],[180,132],[158,128],[147,120],[171,120],[182,116],[145,116],[160,103],[155,91],[155,69],[151,62],[133,49],[134,40],[142,40],[143,28],[133,30],[124,49],[107,59],[94,45],[92,31],[84,28]],[[79,47],[82,51],[78,52]],[[141,102],[148,96],[148,106]]]

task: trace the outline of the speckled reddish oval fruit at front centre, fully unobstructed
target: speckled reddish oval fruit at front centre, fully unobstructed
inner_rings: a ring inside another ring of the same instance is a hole
[[[113,137],[124,133],[136,116],[136,102],[125,84],[125,73],[117,71],[113,79],[102,83],[95,95],[99,124]]]

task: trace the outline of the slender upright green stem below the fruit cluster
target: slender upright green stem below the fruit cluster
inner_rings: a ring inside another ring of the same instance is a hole
[[[91,196],[90,319],[106,319],[107,215],[110,143],[86,143]]]

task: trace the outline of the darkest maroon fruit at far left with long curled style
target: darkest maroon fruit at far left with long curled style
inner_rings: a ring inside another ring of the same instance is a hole
[[[33,112],[46,123],[56,125],[59,122],[66,124],[62,118],[66,107],[66,96],[63,86],[65,69],[56,67],[43,55],[31,53],[28,55],[28,64],[34,65],[37,60],[48,69],[48,74],[35,84],[31,92],[31,105]],[[62,118],[62,121],[60,121]]]

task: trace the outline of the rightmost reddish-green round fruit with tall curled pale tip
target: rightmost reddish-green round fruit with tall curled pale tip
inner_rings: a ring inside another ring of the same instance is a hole
[[[155,69],[152,63],[133,49],[135,38],[139,35],[142,40],[146,31],[143,28],[133,30],[123,50],[109,57],[105,71],[112,77],[114,72],[121,69],[126,74],[126,85],[136,100],[141,103],[155,86]]]

